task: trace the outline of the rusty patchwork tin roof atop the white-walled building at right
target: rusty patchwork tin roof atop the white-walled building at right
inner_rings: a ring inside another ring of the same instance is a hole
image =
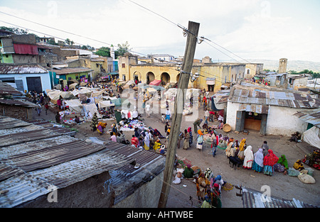
[[[241,82],[232,87],[228,101],[240,104],[317,108],[319,103],[303,91],[279,89]]]

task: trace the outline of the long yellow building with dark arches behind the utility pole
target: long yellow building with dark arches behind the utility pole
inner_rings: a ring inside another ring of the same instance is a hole
[[[208,60],[210,61],[210,60]],[[138,57],[127,55],[119,57],[119,78],[126,81],[137,79],[139,82],[149,84],[154,79],[161,80],[163,85],[169,82],[178,82],[180,71],[178,63],[147,63],[139,64]],[[235,82],[245,77],[245,64],[239,63],[193,63],[191,73],[198,72],[200,77],[189,82],[189,88],[219,91],[226,82]]]

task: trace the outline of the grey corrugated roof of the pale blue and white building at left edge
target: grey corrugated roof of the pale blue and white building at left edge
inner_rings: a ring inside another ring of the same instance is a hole
[[[0,65],[0,74],[39,74],[48,73],[48,70],[40,65]]]

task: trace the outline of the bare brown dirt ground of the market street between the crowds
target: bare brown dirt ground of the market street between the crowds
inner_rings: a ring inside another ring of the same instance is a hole
[[[50,109],[48,115],[43,111],[41,116],[37,116],[36,112],[34,112],[33,117],[55,121],[55,113],[55,109]],[[203,116],[202,108],[199,109],[199,115]],[[146,118],[146,114],[142,114],[142,116],[146,126],[157,128],[162,135],[164,135],[164,123],[161,123],[160,114],[151,113],[150,118]],[[65,118],[72,117],[73,116],[70,115]],[[116,121],[107,121],[107,130],[110,129],[112,123],[116,123]],[[216,123],[209,122],[209,126],[212,124]],[[184,131],[184,129],[190,126],[193,128],[192,122],[186,121],[185,116],[183,116],[181,131]],[[77,128],[79,131],[75,135],[76,138],[85,139],[91,136],[105,139],[110,138],[108,133],[99,135],[97,132],[90,131],[90,123],[80,123],[72,127]],[[282,154],[286,155],[289,167],[292,167],[294,162],[302,159],[304,155],[316,149],[304,142],[289,142],[289,138],[285,136],[262,136],[257,131],[249,131],[248,135],[244,135],[243,133],[236,134],[233,131],[225,133],[223,130],[218,130],[218,133],[228,135],[229,138],[232,137],[239,141],[242,138],[247,138],[247,145],[252,145],[252,150],[254,152],[257,152],[257,148],[261,147],[263,141],[266,140],[269,148],[274,151],[274,154],[277,155],[277,157],[280,157]],[[126,139],[131,140],[133,131],[124,131],[124,134],[126,135]],[[189,160],[191,165],[201,167],[203,171],[209,167],[215,176],[220,174],[225,182],[229,182],[234,186],[242,185],[242,187],[260,191],[263,185],[268,185],[271,188],[271,196],[289,200],[294,198],[303,201],[306,204],[320,206],[320,172],[318,170],[312,168],[314,170],[314,179],[316,180],[315,184],[304,184],[297,177],[290,177],[279,172],[275,172],[274,175],[270,177],[262,173],[254,172],[253,170],[244,170],[242,168],[240,170],[234,170],[230,167],[224,150],[217,149],[217,155],[213,157],[210,146],[206,147],[203,145],[203,151],[200,152],[196,150],[195,138],[196,135],[193,133],[193,144],[188,150],[182,149],[182,142],[181,148],[176,149],[176,154]],[[164,139],[162,139],[161,142],[164,143]],[[306,167],[309,166],[306,165]],[[235,188],[230,191],[222,191],[221,200],[223,208],[242,208],[242,199],[241,197],[236,196],[237,192],[239,192],[239,190]],[[199,206],[201,206],[201,203],[196,196],[196,184],[194,184],[192,180],[181,179],[180,184],[171,185],[171,191],[166,205],[167,208],[196,208]]]

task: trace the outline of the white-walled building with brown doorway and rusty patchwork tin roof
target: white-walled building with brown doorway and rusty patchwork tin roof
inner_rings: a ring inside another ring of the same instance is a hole
[[[262,135],[304,132],[307,123],[294,116],[316,109],[320,101],[304,91],[266,87],[242,81],[230,90],[226,123],[233,131],[255,130]]]

